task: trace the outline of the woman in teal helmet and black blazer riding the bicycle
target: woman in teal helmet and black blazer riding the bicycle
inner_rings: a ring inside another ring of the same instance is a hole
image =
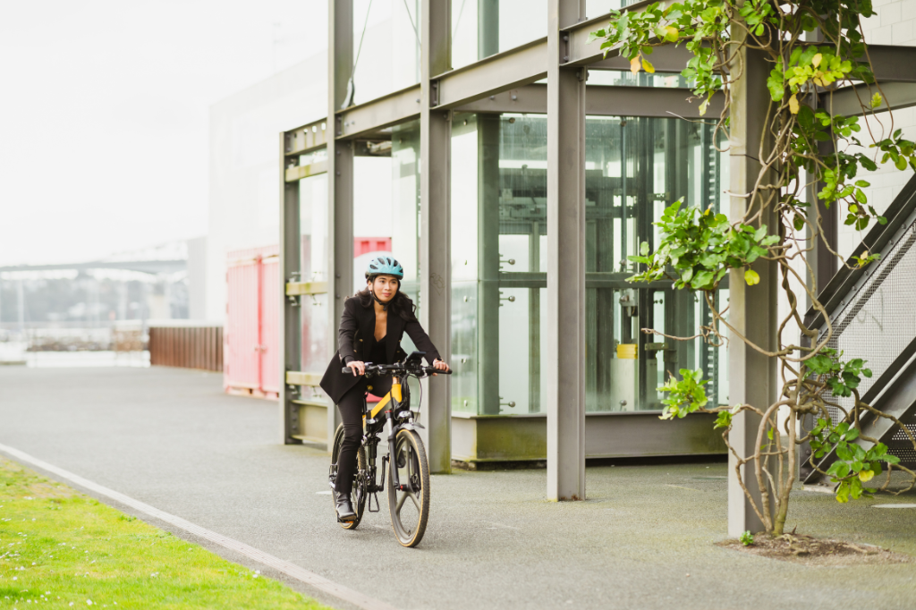
[[[390,256],[378,256],[365,269],[365,290],[344,301],[344,314],[338,331],[337,354],[322,377],[322,389],[340,409],[344,421],[344,442],[337,460],[334,483],[334,505],[337,518],[352,521],[356,517],[350,502],[356,470],[356,454],[363,441],[363,408],[365,393],[384,398],[391,389],[391,378],[371,382],[365,378],[365,363],[390,365],[406,354],[400,347],[404,332],[426,360],[440,371],[448,371],[430,336],[417,320],[413,301],[400,291],[404,268]],[[350,368],[345,374],[342,364]]]

